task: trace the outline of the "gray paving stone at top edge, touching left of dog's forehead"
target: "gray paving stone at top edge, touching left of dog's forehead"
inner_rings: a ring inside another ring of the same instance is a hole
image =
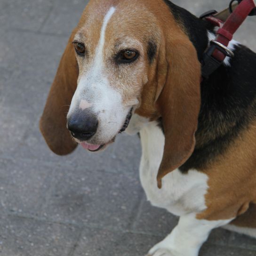
[[[55,0],[53,11],[41,31],[69,35],[87,3],[88,0]]]

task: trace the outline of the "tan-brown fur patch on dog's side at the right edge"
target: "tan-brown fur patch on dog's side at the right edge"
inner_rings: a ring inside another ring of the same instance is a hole
[[[256,201],[255,137],[254,121],[223,155],[201,170],[209,176],[209,189],[205,196],[207,209],[198,214],[199,219],[231,219],[244,214],[249,204]],[[251,209],[248,214],[252,215]],[[244,220],[244,217],[240,219]],[[239,223],[239,220],[235,222]]]

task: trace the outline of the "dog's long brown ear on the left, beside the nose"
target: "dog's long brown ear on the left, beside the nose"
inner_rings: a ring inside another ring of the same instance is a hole
[[[40,131],[49,148],[58,155],[71,153],[77,146],[66,128],[66,115],[77,87],[79,72],[72,45],[74,33],[61,58],[40,119]]]

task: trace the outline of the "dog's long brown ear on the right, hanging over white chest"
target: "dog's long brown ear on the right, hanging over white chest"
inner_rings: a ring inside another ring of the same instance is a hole
[[[200,63],[192,42],[180,34],[166,43],[167,78],[157,100],[165,145],[157,180],[180,167],[195,147],[200,111]]]

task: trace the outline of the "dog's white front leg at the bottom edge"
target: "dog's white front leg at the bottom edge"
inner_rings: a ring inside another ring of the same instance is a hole
[[[147,256],[198,256],[199,250],[211,230],[231,221],[199,220],[196,218],[196,214],[181,216],[173,231],[156,244]]]

